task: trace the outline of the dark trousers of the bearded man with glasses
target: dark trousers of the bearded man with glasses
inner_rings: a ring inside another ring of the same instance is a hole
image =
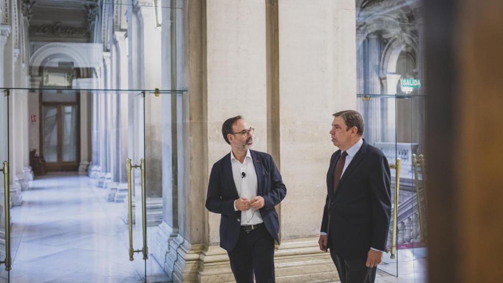
[[[227,252],[230,267],[237,283],[275,282],[274,238],[262,226],[254,231],[239,232],[236,246]]]

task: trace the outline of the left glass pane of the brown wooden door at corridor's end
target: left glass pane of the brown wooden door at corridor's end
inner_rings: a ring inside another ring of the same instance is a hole
[[[58,161],[58,108],[44,106],[44,158],[45,162]]]

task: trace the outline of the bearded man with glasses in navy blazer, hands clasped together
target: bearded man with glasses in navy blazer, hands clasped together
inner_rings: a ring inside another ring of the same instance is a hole
[[[272,157],[250,150],[254,128],[241,116],[222,125],[231,151],[213,164],[206,208],[220,217],[220,247],[229,255],[236,282],[275,282],[274,240],[279,221],[274,206],[286,187]]]

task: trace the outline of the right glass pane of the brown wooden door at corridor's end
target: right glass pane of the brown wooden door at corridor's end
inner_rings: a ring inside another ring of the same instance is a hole
[[[63,107],[63,162],[77,160],[77,113],[75,106]]]

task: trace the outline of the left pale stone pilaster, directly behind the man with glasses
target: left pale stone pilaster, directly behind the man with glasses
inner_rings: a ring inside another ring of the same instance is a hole
[[[190,198],[196,199],[191,211],[201,211],[201,215],[205,215],[204,219],[197,220],[204,223],[204,234],[197,225],[190,227],[191,242],[204,244],[199,269],[201,282],[233,281],[227,253],[219,247],[220,215],[209,213],[204,207],[211,168],[230,151],[222,137],[222,123],[229,117],[243,115],[256,129],[253,149],[267,151],[266,12],[265,0],[206,2],[206,97],[202,105],[206,123],[194,124],[204,135],[192,130],[190,133],[203,138],[202,149],[206,152],[191,152],[197,162],[191,164],[188,172],[191,180],[201,182],[200,188],[191,184]],[[189,92],[188,99],[200,99],[190,87]],[[189,110],[191,116],[194,110]],[[197,167],[201,165],[204,173],[197,176]],[[196,203],[200,204],[195,207]],[[193,212],[193,215],[191,220],[195,221],[197,214]]]

